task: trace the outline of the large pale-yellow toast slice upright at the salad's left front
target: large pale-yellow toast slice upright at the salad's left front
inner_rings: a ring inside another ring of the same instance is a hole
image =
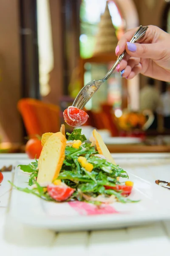
[[[38,160],[38,183],[57,179],[65,159],[66,138],[61,132],[52,134],[45,142]]]

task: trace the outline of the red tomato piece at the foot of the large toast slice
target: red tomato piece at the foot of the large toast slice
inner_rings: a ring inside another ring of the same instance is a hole
[[[62,202],[67,200],[74,192],[74,189],[67,185],[48,185],[48,194],[56,201]]]

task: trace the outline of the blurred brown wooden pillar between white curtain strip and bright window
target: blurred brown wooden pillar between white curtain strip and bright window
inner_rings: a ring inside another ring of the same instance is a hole
[[[71,73],[79,61],[79,7],[81,0],[49,0],[54,50],[54,69],[50,73],[51,92],[45,102],[58,105],[68,94]]]

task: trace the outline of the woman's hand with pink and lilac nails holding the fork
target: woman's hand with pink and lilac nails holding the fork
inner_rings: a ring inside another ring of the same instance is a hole
[[[127,55],[117,66],[121,76],[132,79],[141,73],[162,81],[170,81],[170,34],[156,26],[148,26],[140,44],[129,43],[138,28],[128,30],[118,42],[116,55],[126,49]]]

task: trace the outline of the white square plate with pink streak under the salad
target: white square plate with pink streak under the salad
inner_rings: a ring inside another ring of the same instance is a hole
[[[132,173],[128,172],[128,175],[129,180],[134,182],[129,198],[140,202],[116,202],[97,210],[92,204],[46,202],[34,195],[12,189],[9,214],[23,224],[55,231],[110,229],[169,220],[169,190]],[[28,175],[16,168],[14,184],[26,187],[27,181]]]

